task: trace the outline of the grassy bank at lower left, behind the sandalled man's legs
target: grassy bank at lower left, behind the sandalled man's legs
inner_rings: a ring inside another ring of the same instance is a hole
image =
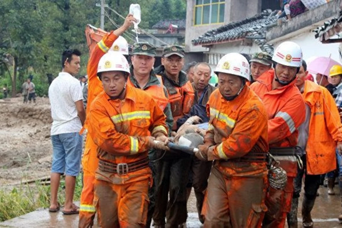
[[[61,180],[58,189],[58,202],[61,205],[65,201],[65,183]],[[81,175],[76,179],[74,200],[79,201],[82,191]],[[14,187],[11,191],[0,189],[0,222],[34,211],[38,208],[50,206],[50,185],[45,186],[40,182],[31,185]]]

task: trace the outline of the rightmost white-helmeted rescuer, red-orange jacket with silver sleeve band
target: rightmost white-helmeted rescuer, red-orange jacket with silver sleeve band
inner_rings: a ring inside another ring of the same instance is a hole
[[[263,73],[250,85],[267,110],[270,153],[280,156],[280,167],[287,172],[285,189],[269,188],[266,196],[268,211],[263,227],[284,227],[286,213],[291,209],[293,179],[297,175],[295,146],[298,128],[305,120],[304,99],[295,86],[302,58],[298,44],[289,41],[281,43],[272,57],[274,69]]]

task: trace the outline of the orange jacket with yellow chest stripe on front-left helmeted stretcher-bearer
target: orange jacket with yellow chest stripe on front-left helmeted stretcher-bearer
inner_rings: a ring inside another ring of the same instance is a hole
[[[104,91],[95,98],[90,107],[88,132],[98,146],[100,160],[131,163],[147,157],[148,135],[168,135],[165,120],[166,116],[151,95],[127,86],[124,100],[111,100]],[[150,173],[149,169],[143,170]],[[141,172],[144,171],[134,171],[128,176]],[[102,178],[104,176],[102,174]]]

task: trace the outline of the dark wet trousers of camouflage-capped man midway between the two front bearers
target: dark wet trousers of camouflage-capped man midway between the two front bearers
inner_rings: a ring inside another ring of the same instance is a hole
[[[186,184],[191,157],[160,160],[157,165],[154,225],[176,227],[186,222]],[[169,200],[168,200],[169,198]]]

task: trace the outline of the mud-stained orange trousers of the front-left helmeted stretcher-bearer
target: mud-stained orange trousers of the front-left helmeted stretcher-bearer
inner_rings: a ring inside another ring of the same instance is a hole
[[[145,227],[149,179],[115,185],[95,180],[94,206],[102,228]]]

